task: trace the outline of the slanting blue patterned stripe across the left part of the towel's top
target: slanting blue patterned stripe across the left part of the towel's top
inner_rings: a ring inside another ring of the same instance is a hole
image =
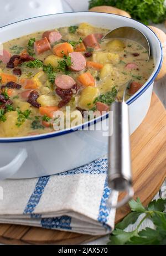
[[[35,207],[38,205],[40,198],[44,192],[44,188],[49,181],[50,176],[40,177],[37,184],[35,185],[34,191],[29,198],[27,206],[24,209],[24,214],[31,214],[34,212]]]

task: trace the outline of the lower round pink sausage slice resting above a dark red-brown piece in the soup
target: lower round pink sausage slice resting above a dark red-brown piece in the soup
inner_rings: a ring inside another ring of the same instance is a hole
[[[75,80],[69,75],[59,75],[55,79],[55,85],[63,90],[71,89],[75,85]]]

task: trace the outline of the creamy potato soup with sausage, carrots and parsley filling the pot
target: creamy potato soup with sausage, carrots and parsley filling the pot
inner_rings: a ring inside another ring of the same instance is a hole
[[[53,132],[57,110],[107,111],[146,83],[154,69],[142,45],[101,41],[109,30],[87,23],[38,32],[3,44],[0,55],[0,136]],[[83,117],[82,117],[83,118]],[[83,119],[84,121],[84,119]]]

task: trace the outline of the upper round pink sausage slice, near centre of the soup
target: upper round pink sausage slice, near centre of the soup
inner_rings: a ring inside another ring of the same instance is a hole
[[[73,71],[81,71],[86,68],[86,59],[81,53],[73,52],[69,53],[71,58],[70,69]]]

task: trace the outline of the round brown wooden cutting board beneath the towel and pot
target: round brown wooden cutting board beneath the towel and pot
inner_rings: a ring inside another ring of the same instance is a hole
[[[166,111],[153,93],[146,119],[131,136],[134,198],[146,206],[166,177]],[[123,194],[120,194],[120,199]],[[126,205],[118,209],[116,223],[129,213]],[[11,224],[0,224],[0,243],[4,244],[80,244],[99,237]]]

